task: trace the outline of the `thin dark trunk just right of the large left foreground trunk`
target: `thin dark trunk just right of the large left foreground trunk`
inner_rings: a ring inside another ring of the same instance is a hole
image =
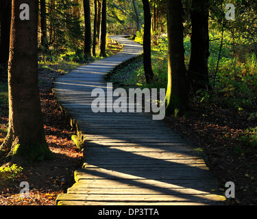
[[[45,7],[45,0],[40,0],[40,27],[41,27],[41,47],[47,49],[47,10]]]

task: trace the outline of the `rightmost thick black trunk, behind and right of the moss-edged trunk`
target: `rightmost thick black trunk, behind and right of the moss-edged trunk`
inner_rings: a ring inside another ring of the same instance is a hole
[[[210,88],[208,79],[208,57],[210,55],[208,16],[208,0],[193,0],[191,12],[191,60],[188,68],[188,79],[193,92]]]

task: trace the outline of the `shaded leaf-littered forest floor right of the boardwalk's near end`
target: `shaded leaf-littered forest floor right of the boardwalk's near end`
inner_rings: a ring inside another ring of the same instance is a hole
[[[247,118],[247,112],[195,106],[186,118],[164,119],[171,129],[203,149],[219,191],[225,194],[225,183],[234,183],[235,198],[229,198],[228,205],[257,205],[257,149],[240,140],[246,127],[256,127],[256,120],[250,125]]]

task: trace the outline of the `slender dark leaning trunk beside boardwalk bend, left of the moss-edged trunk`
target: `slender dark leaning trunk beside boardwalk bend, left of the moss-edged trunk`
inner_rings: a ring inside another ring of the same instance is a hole
[[[149,0],[143,0],[145,29],[144,29],[144,42],[143,42],[143,62],[145,70],[145,79],[150,83],[154,78],[154,73],[151,68],[151,9]]]

